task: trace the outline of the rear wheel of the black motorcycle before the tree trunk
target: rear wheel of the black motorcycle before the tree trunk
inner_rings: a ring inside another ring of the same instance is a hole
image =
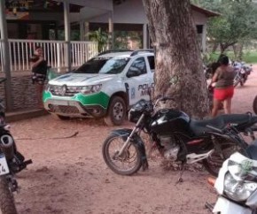
[[[226,159],[228,159],[236,151],[243,151],[243,148],[240,148],[232,141],[222,141],[221,149],[223,158],[217,151],[214,150],[212,155],[203,160],[203,166],[206,168],[206,171],[215,177],[218,176],[222,164]]]

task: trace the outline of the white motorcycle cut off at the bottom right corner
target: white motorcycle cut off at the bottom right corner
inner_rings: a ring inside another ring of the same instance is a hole
[[[206,208],[219,214],[257,213],[257,141],[232,154],[223,164],[218,178],[209,179],[218,193],[216,203]]]

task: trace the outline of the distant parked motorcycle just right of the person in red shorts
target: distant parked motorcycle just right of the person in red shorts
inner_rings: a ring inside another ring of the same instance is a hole
[[[240,86],[244,86],[248,75],[253,71],[252,65],[245,65],[244,62],[234,62],[233,66],[237,73],[234,78],[234,87],[237,87],[239,83]]]

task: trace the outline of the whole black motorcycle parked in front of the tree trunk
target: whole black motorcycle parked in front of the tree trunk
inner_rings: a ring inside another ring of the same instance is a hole
[[[155,104],[140,100],[128,112],[128,120],[136,123],[133,129],[117,129],[104,141],[102,153],[105,164],[121,175],[136,173],[148,167],[144,141],[140,134],[149,134],[152,147],[163,157],[178,164],[202,162],[208,172],[216,176],[222,162],[246,143],[238,143],[229,135],[220,133],[225,126],[233,126],[239,132],[250,134],[257,117],[247,114],[221,115],[213,119],[196,120],[183,111],[160,109],[154,112],[159,102],[172,100],[161,97]],[[215,130],[214,127],[219,128]]]

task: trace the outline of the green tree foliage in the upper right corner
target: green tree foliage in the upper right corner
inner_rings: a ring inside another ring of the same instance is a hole
[[[209,19],[207,35],[219,43],[222,51],[231,45],[256,36],[257,4],[250,0],[192,0],[208,10],[220,12],[220,17]]]

